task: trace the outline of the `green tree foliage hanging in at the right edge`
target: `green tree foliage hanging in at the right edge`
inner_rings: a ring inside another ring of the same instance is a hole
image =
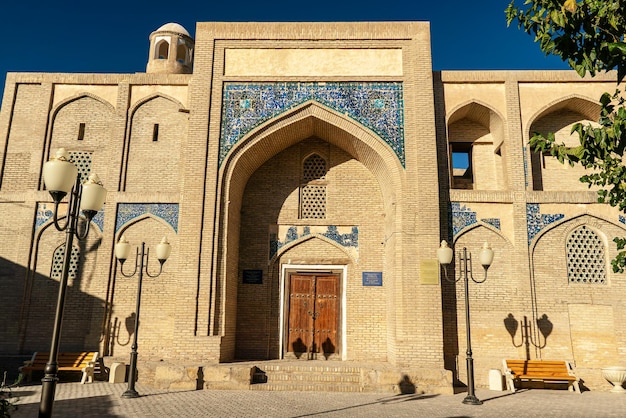
[[[505,14],[508,25],[517,21],[546,55],[561,57],[581,77],[615,71],[617,87],[600,98],[598,125],[572,126],[579,145],[557,144],[553,133],[533,133],[530,147],[589,169],[581,182],[599,186],[598,201],[626,213],[626,108],[620,89],[626,76],[626,0],[526,0],[522,6],[513,0]],[[619,253],[613,271],[624,272],[626,238],[614,242]]]

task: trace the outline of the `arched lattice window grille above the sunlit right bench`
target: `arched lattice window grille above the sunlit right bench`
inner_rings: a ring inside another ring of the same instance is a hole
[[[567,276],[570,283],[606,284],[604,242],[587,226],[567,238]]]

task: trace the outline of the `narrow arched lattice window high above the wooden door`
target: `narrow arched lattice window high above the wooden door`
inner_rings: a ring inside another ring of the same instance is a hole
[[[317,154],[304,160],[300,187],[300,219],[326,218],[326,160]]]

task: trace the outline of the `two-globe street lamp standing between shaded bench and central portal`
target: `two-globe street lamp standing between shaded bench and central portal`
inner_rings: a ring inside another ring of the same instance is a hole
[[[120,272],[124,277],[133,277],[139,269],[139,284],[137,285],[137,308],[135,315],[135,333],[133,335],[133,345],[131,346],[130,353],[130,372],[128,375],[128,389],[122,393],[122,398],[138,398],[139,393],[135,390],[135,380],[137,380],[137,333],[139,331],[139,308],[141,307],[141,282],[143,281],[144,271],[144,257],[145,257],[145,271],[148,277],[156,278],[163,272],[163,263],[170,256],[172,247],[167,239],[163,237],[161,243],[157,245],[157,260],[159,260],[159,272],[157,274],[150,274],[148,271],[148,258],[150,256],[150,250],[146,251],[146,243],[141,243],[141,254],[139,254],[139,248],[136,249],[135,255],[135,269],[132,273],[124,273],[124,261],[130,255],[130,243],[126,240],[124,235],[120,238],[117,244],[115,244],[115,257],[120,261]]]

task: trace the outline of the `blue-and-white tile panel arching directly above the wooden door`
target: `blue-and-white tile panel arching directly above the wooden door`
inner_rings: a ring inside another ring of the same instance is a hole
[[[345,247],[348,252],[358,258],[359,253],[359,227],[358,226],[334,226],[334,225],[314,225],[314,226],[290,226],[274,225],[270,228],[270,260],[278,254],[278,251],[285,245],[300,238],[310,235],[326,237],[337,244]]]

